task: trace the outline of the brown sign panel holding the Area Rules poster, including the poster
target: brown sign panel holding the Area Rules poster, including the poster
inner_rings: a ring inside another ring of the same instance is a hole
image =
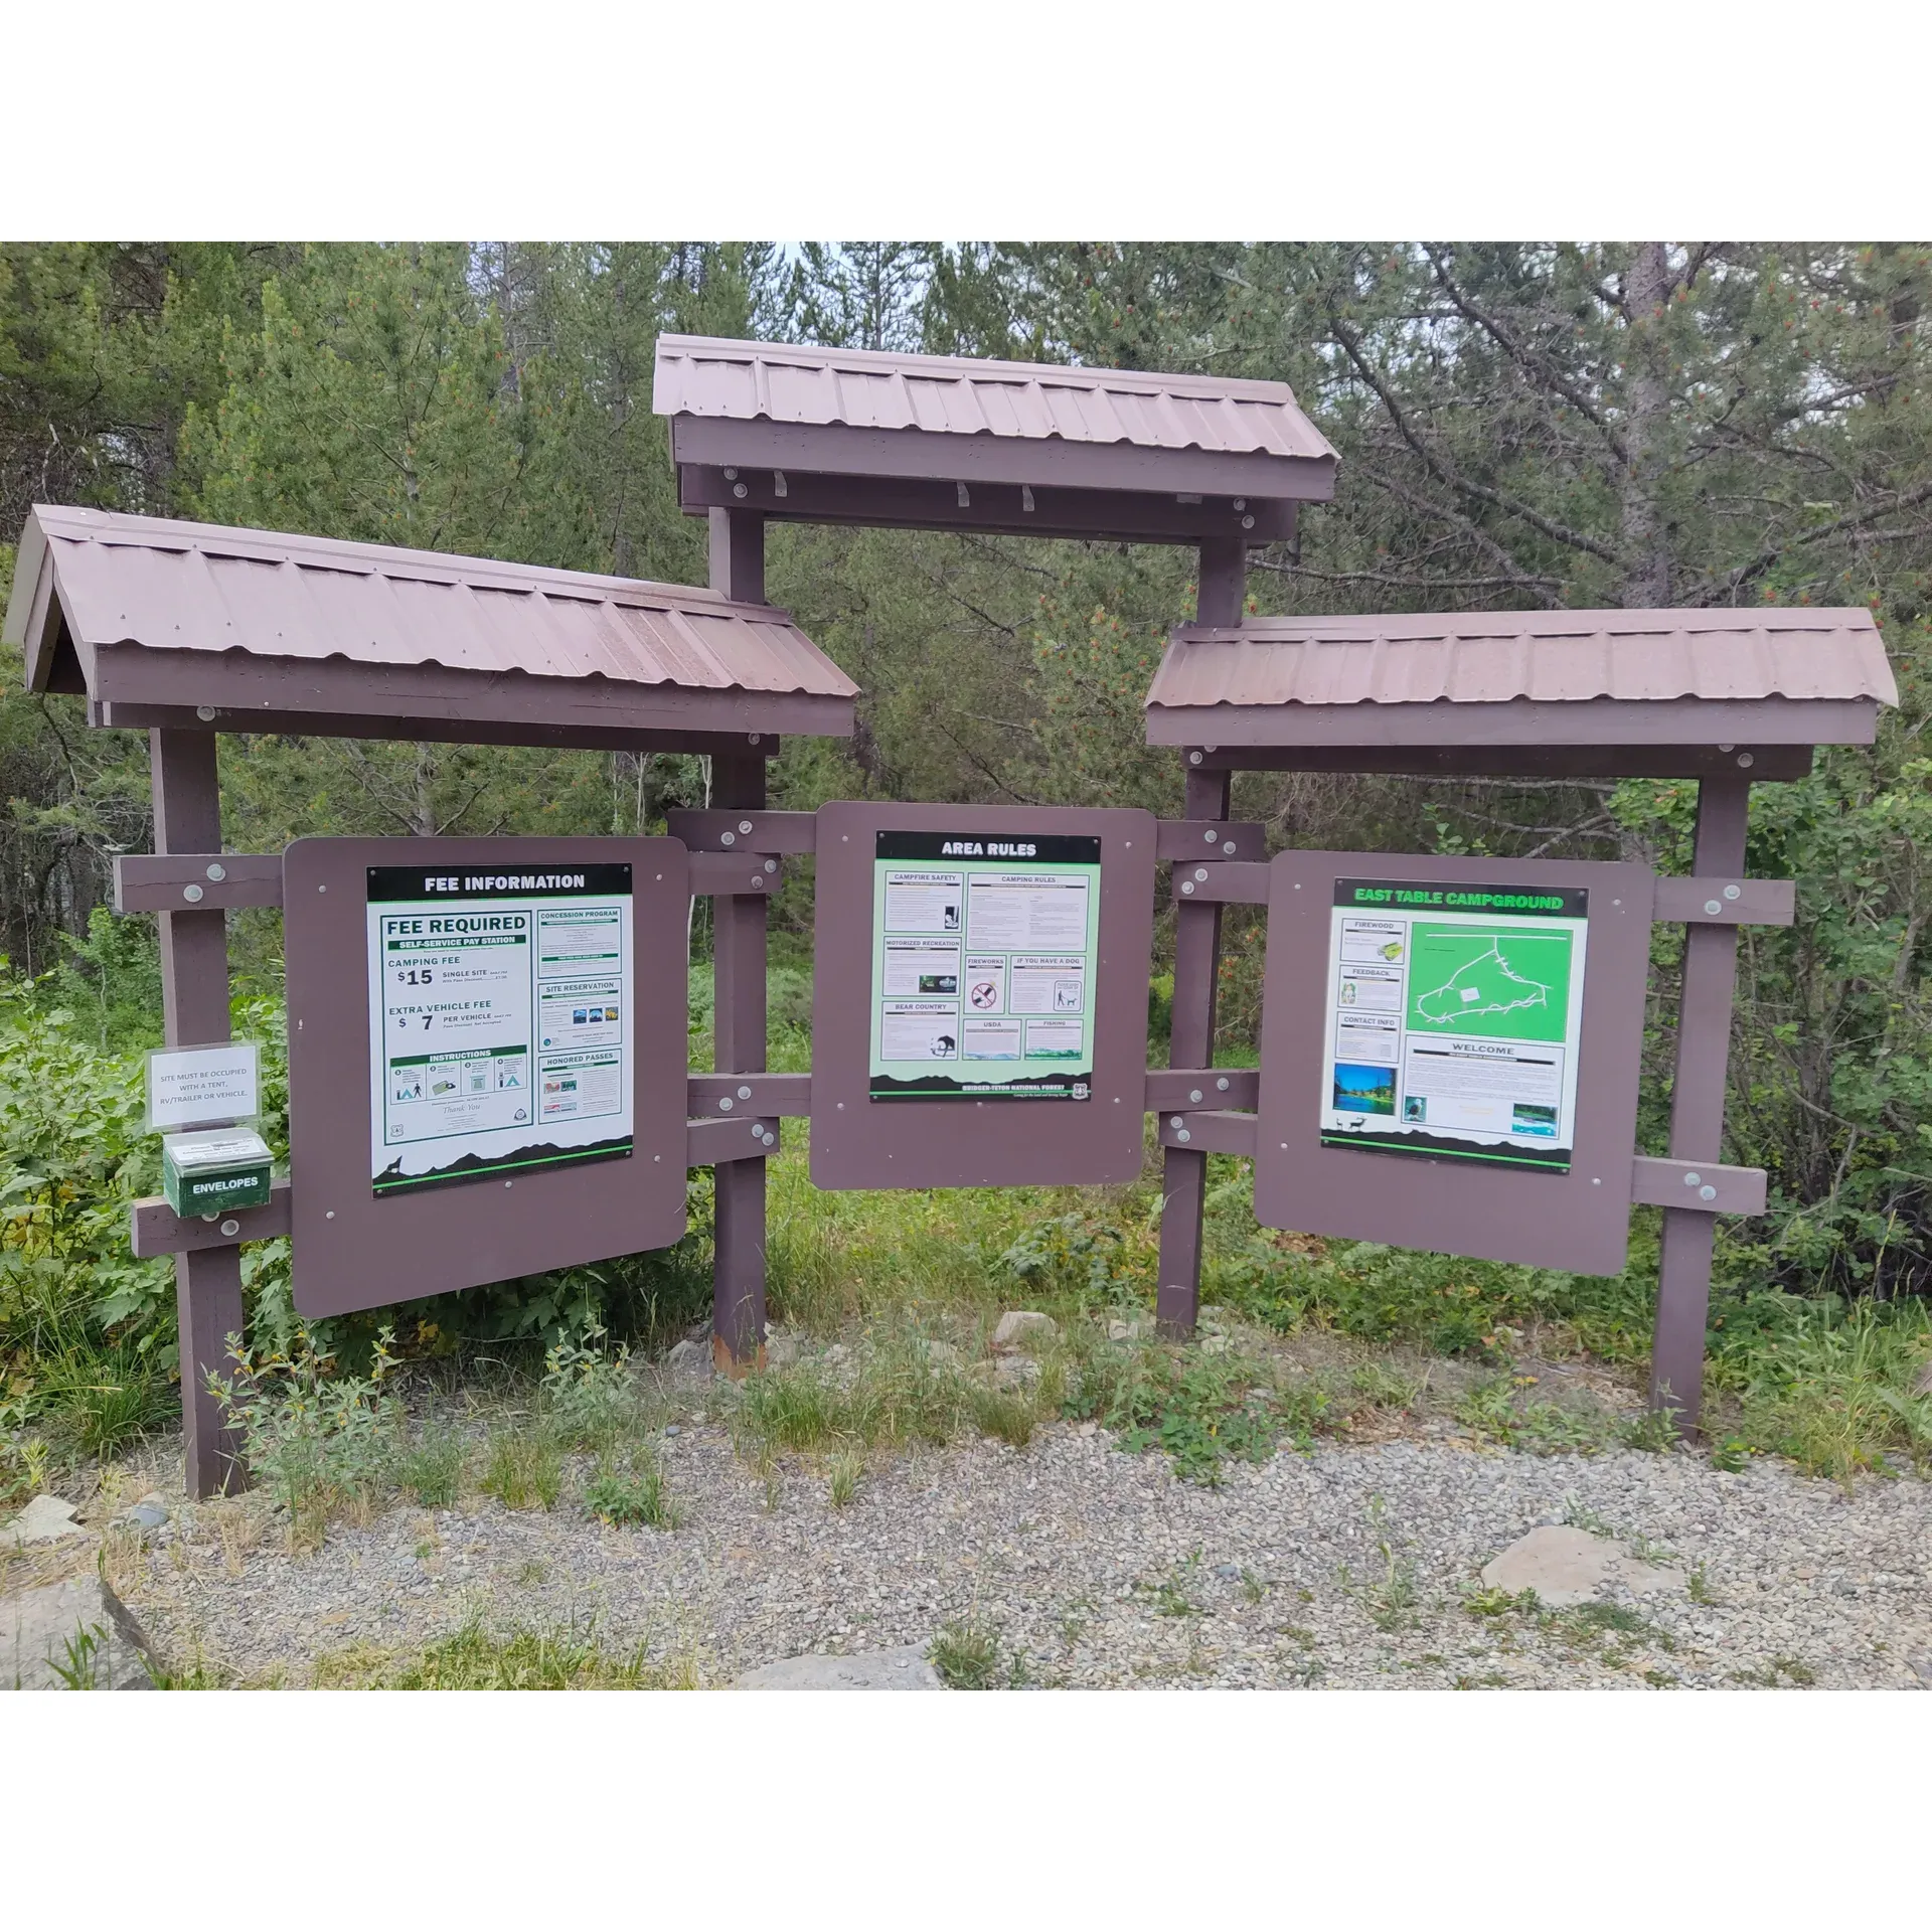
[[[831,804],[817,817],[813,1182],[1136,1179],[1153,815]]]

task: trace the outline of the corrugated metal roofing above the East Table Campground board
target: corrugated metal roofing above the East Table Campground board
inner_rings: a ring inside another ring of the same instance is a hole
[[[1180,628],[1150,709],[1206,705],[1586,703],[1611,699],[1899,701],[1872,612],[1505,611],[1267,616]]]

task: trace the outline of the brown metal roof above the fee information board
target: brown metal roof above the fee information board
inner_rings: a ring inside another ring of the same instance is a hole
[[[56,647],[71,647],[89,696],[104,701],[129,696],[118,672],[153,699],[162,657],[201,661],[187,674],[213,692],[236,655],[330,663],[332,697],[344,670],[371,686],[404,670],[454,672],[454,692],[506,676],[543,688],[593,680],[612,726],[634,701],[736,694],[753,709],[740,703],[732,717],[753,723],[759,699],[829,699],[846,724],[819,728],[837,732],[850,730],[858,692],[782,611],[717,591],[58,506],[37,506],[23,535],[6,636],[27,645],[35,690],[71,684],[73,667],[56,678]],[[149,668],[126,670],[133,657]],[[168,682],[182,676],[176,665]],[[402,678],[412,682],[433,680]],[[784,728],[810,728],[796,705],[790,715]]]

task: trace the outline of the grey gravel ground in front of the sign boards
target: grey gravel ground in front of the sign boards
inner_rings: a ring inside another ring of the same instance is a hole
[[[199,1656],[243,1683],[299,1685],[328,1652],[408,1654],[483,1615],[595,1619],[607,1648],[643,1642],[705,1683],[964,1619],[995,1633],[1003,1681],[1047,1687],[1932,1685],[1932,1484],[1917,1480],[1847,1497],[1685,1453],[1401,1439],[1283,1453],[1200,1490],[1092,1424],[1055,1424],[1020,1451],[881,1463],[833,1509],[806,1464],[781,1464],[767,1495],[715,1424],[682,1424],[663,1451],[674,1532],[491,1501],[394,1509],[288,1555],[270,1505],[242,1497],[182,1505],[139,1544],[116,1532],[110,1571],[174,1665]],[[1565,1517],[1667,1549],[1689,1586],[1594,1619],[1464,1607],[1490,1557]]]

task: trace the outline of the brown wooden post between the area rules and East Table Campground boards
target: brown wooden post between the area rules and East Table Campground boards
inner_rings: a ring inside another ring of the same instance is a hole
[[[1238,624],[1248,595],[1248,547],[1238,537],[1202,543],[1202,624]],[[1184,817],[1225,819],[1229,775],[1200,771],[1188,752]],[[1215,995],[1221,980],[1221,908],[1175,908],[1175,1001],[1169,1066],[1213,1065]],[[1200,1312],[1202,1211],[1208,1196],[1208,1155],[1169,1148],[1161,1165],[1161,1277],[1153,1321],[1161,1335],[1188,1337]]]

